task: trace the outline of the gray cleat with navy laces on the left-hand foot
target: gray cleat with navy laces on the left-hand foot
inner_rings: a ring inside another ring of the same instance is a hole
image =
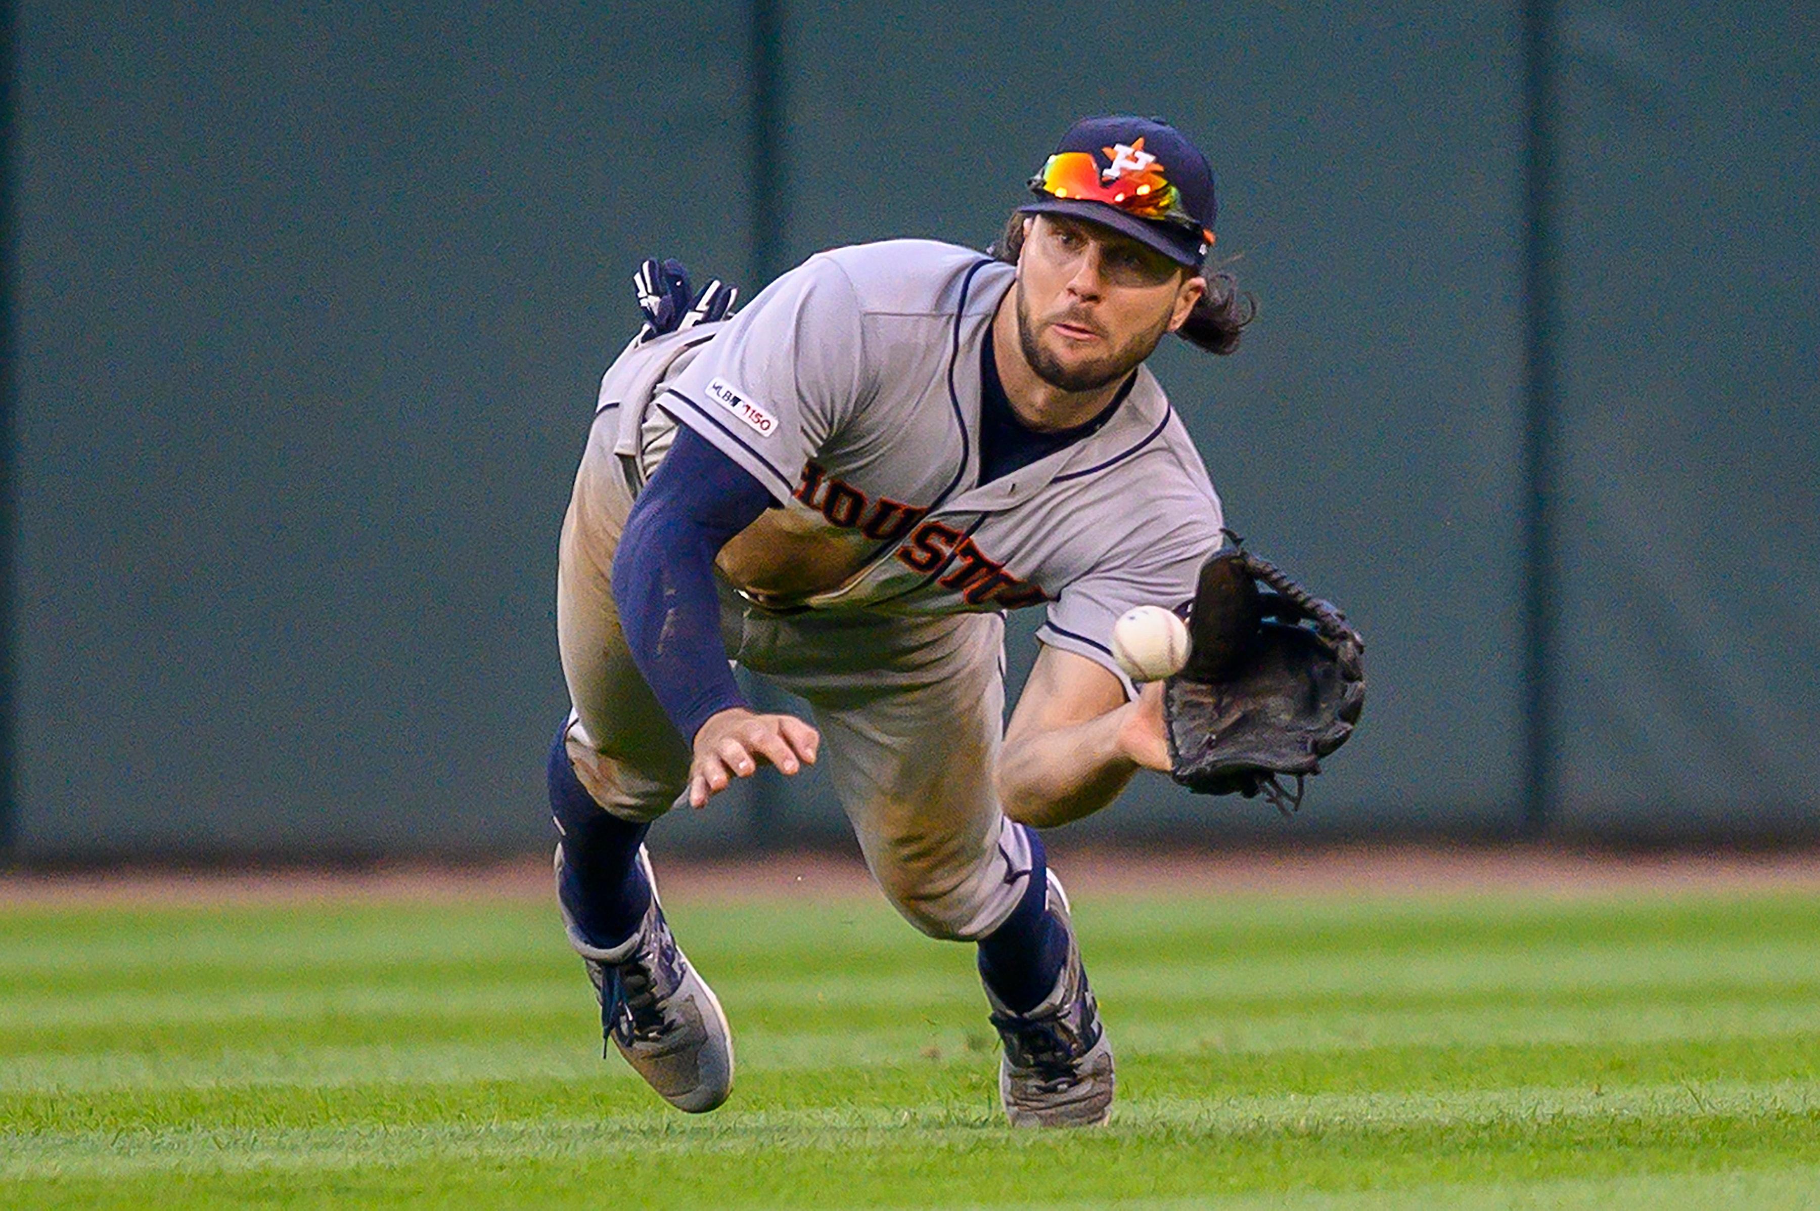
[[[699,1114],[726,1102],[726,1094],[733,1091],[733,1034],[713,989],[695,974],[670,934],[664,909],[657,901],[652,860],[642,847],[639,865],[652,885],[652,907],[644,911],[639,932],[617,947],[595,947],[581,936],[566,905],[562,925],[593,982],[604,1040],[619,1047],[626,1063],[664,1102]],[[559,845],[559,885],[561,880]]]

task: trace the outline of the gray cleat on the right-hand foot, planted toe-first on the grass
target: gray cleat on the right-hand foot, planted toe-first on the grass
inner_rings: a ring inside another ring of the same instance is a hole
[[[992,1025],[1005,1043],[999,1100],[1014,1127],[1096,1127],[1112,1114],[1112,1045],[1099,1023],[1099,1005],[1087,987],[1081,947],[1074,940],[1068,896],[1048,876],[1048,911],[1068,932],[1068,960],[1056,989],[1030,1013],[1010,1013],[992,989]]]

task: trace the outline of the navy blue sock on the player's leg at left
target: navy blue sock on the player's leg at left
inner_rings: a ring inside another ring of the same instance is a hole
[[[610,949],[624,941],[652,905],[652,885],[639,867],[639,845],[650,825],[635,825],[601,809],[575,778],[568,727],[550,747],[550,814],[562,834],[562,881],[557,896],[588,941]]]

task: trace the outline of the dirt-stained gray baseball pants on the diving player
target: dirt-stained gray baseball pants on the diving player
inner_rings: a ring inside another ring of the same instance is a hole
[[[633,499],[615,426],[612,413],[595,422],[562,521],[557,637],[575,774],[604,810],[648,821],[684,794],[690,747],[632,663],[613,606],[613,552]],[[935,938],[997,929],[1030,869],[1028,841],[994,790],[1003,619],[777,616],[723,583],[721,634],[732,659],[812,705],[819,761],[892,905]]]

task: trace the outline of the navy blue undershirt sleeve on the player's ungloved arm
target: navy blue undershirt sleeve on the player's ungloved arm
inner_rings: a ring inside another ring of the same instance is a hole
[[[684,743],[708,716],[748,707],[726,665],[713,557],[772,494],[690,426],[639,494],[613,555],[613,603],[657,703]]]

